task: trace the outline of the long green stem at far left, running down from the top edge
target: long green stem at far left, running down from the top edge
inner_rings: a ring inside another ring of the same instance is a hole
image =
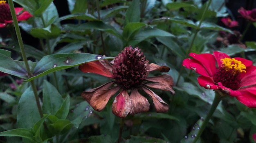
[[[22,58],[23,58],[23,61],[25,63],[26,69],[27,69],[27,74],[28,74],[29,77],[32,77],[32,73],[31,73],[30,68],[29,68],[29,63],[27,61],[25,48],[24,48],[24,45],[23,45],[23,42],[22,42],[22,37],[21,37],[21,34],[20,34],[20,28],[19,28],[19,25],[18,25],[18,20],[17,20],[17,16],[16,16],[16,13],[15,13],[13,0],[8,0],[8,4],[9,4],[9,7],[10,7],[11,17],[13,19],[13,24],[14,24],[14,28],[15,28],[15,31],[16,31],[18,43],[19,43],[19,46],[20,46],[20,51],[21,51],[21,54],[22,54]],[[36,105],[37,105],[40,117],[43,117],[43,111],[42,111],[42,108],[40,106],[39,97],[38,97],[37,90],[36,90],[36,84],[35,84],[34,80],[31,80],[30,83],[31,83],[31,87],[32,87],[33,92],[34,92],[34,96],[35,96],[35,99],[36,99]]]

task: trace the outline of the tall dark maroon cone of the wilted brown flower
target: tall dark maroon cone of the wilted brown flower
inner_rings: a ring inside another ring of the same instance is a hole
[[[137,88],[148,76],[148,60],[139,48],[124,48],[115,58],[112,73],[123,88]]]

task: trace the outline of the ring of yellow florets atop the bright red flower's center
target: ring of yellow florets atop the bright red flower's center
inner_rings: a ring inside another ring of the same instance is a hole
[[[246,72],[244,70],[246,69],[246,66],[241,61],[238,61],[235,58],[222,58],[220,60],[222,61],[222,64],[227,67],[226,71],[228,71],[229,69],[234,69],[234,74],[236,74],[236,72]]]

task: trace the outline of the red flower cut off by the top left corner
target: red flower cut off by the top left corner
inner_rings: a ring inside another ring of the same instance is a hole
[[[32,17],[28,11],[23,11],[20,13],[22,10],[22,7],[15,8],[18,21],[28,20],[29,17]],[[0,0],[0,28],[5,27],[8,23],[13,23],[9,5],[5,0]]]

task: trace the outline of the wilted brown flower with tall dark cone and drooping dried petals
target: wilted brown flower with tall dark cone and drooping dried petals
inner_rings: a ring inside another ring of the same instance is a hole
[[[135,115],[149,110],[148,100],[142,96],[138,89],[144,90],[152,98],[157,113],[166,112],[168,104],[148,87],[175,92],[172,89],[173,79],[168,74],[148,77],[148,73],[154,70],[168,72],[166,66],[148,63],[143,52],[139,48],[126,47],[111,65],[107,60],[93,61],[79,65],[82,72],[91,72],[115,79],[100,87],[84,91],[83,98],[96,111],[101,111],[108,100],[121,90],[112,104],[112,112],[119,117],[126,117],[128,113]],[[109,88],[111,85],[115,85]]]

